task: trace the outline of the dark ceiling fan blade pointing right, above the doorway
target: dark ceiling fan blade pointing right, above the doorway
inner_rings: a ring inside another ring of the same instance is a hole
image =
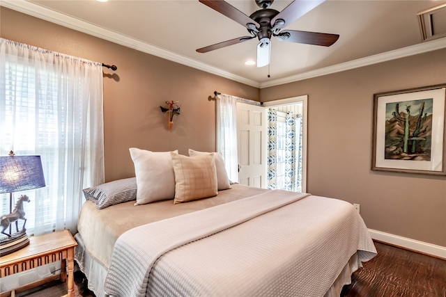
[[[324,47],[330,47],[330,45],[336,42],[339,38],[339,35],[337,34],[293,30],[281,31],[275,36],[279,41],[298,42],[307,45],[322,45]]]

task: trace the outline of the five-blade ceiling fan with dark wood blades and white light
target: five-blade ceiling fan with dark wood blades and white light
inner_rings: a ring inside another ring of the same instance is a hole
[[[255,11],[252,15],[249,15],[249,17],[226,1],[199,1],[222,15],[226,15],[226,17],[245,26],[251,34],[251,36],[243,36],[219,42],[215,45],[209,45],[208,47],[201,47],[201,49],[197,49],[199,53],[206,53],[215,49],[221,49],[222,47],[228,47],[229,45],[236,45],[253,38],[259,38],[260,42],[257,45],[257,67],[263,67],[270,63],[270,43],[272,36],[275,36],[279,41],[298,42],[307,45],[322,45],[324,47],[330,47],[330,45],[336,42],[339,38],[339,35],[329,33],[294,30],[281,31],[285,26],[288,26],[299,17],[302,17],[302,15],[305,15],[309,10],[312,10],[325,0],[295,0],[281,12],[269,8],[274,0],[255,0],[257,6],[261,9]]]

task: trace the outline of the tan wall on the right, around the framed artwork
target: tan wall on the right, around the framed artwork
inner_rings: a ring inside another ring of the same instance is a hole
[[[446,83],[446,49],[261,89],[308,95],[307,191],[359,203],[367,227],[446,246],[446,177],[371,171],[373,95]]]

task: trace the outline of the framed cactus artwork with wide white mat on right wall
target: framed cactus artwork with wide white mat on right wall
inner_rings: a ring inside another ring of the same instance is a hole
[[[446,175],[445,90],[374,94],[371,170]]]

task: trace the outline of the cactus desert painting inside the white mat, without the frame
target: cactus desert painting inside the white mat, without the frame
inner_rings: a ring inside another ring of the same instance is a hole
[[[431,160],[433,98],[387,103],[385,159]]]

